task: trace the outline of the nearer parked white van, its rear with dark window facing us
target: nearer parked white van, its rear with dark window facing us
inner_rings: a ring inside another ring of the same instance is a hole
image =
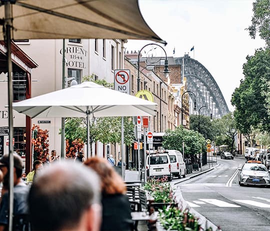
[[[167,153],[155,153],[147,155],[146,163],[146,168],[149,171],[149,177],[158,178],[167,176],[169,181],[172,180],[171,165]]]

